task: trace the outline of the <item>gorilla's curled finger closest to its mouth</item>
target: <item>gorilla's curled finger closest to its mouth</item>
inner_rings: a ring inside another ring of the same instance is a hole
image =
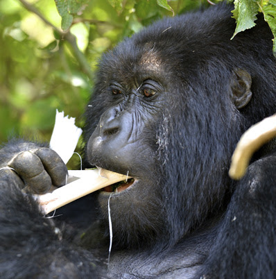
[[[51,176],[53,185],[57,187],[65,185],[68,171],[58,153],[47,148],[37,149],[34,153],[40,158],[44,168]]]

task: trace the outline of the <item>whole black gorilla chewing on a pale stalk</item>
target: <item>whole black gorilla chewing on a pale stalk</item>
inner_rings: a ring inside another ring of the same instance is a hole
[[[30,193],[64,185],[62,160],[2,146],[1,278],[276,278],[275,143],[228,176],[242,133],[276,110],[273,35],[260,16],[230,40],[232,9],[163,19],[101,58],[83,158],[127,183],[51,219]]]

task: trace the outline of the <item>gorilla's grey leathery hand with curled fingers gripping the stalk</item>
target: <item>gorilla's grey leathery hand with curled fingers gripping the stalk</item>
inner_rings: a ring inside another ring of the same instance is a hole
[[[17,153],[7,167],[0,169],[0,177],[15,180],[19,187],[27,187],[34,194],[44,194],[51,185],[66,183],[67,167],[55,151],[45,147]]]

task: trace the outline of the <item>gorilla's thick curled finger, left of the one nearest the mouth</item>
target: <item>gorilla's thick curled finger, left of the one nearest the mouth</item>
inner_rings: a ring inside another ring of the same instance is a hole
[[[43,194],[51,188],[51,178],[40,158],[30,151],[19,153],[8,165],[15,169],[31,192]]]

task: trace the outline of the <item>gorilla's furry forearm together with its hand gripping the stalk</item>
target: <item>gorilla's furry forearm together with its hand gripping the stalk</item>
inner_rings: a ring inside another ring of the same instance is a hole
[[[53,219],[43,216],[33,196],[21,191],[26,186],[27,192],[44,190],[46,176],[55,180],[55,167],[66,175],[58,155],[45,144],[19,140],[0,150],[0,162],[0,277],[61,278],[70,274],[71,278],[87,278],[96,274],[98,264],[92,254],[69,244],[64,239],[66,228],[57,228]],[[45,166],[45,176],[32,180],[41,166]]]

